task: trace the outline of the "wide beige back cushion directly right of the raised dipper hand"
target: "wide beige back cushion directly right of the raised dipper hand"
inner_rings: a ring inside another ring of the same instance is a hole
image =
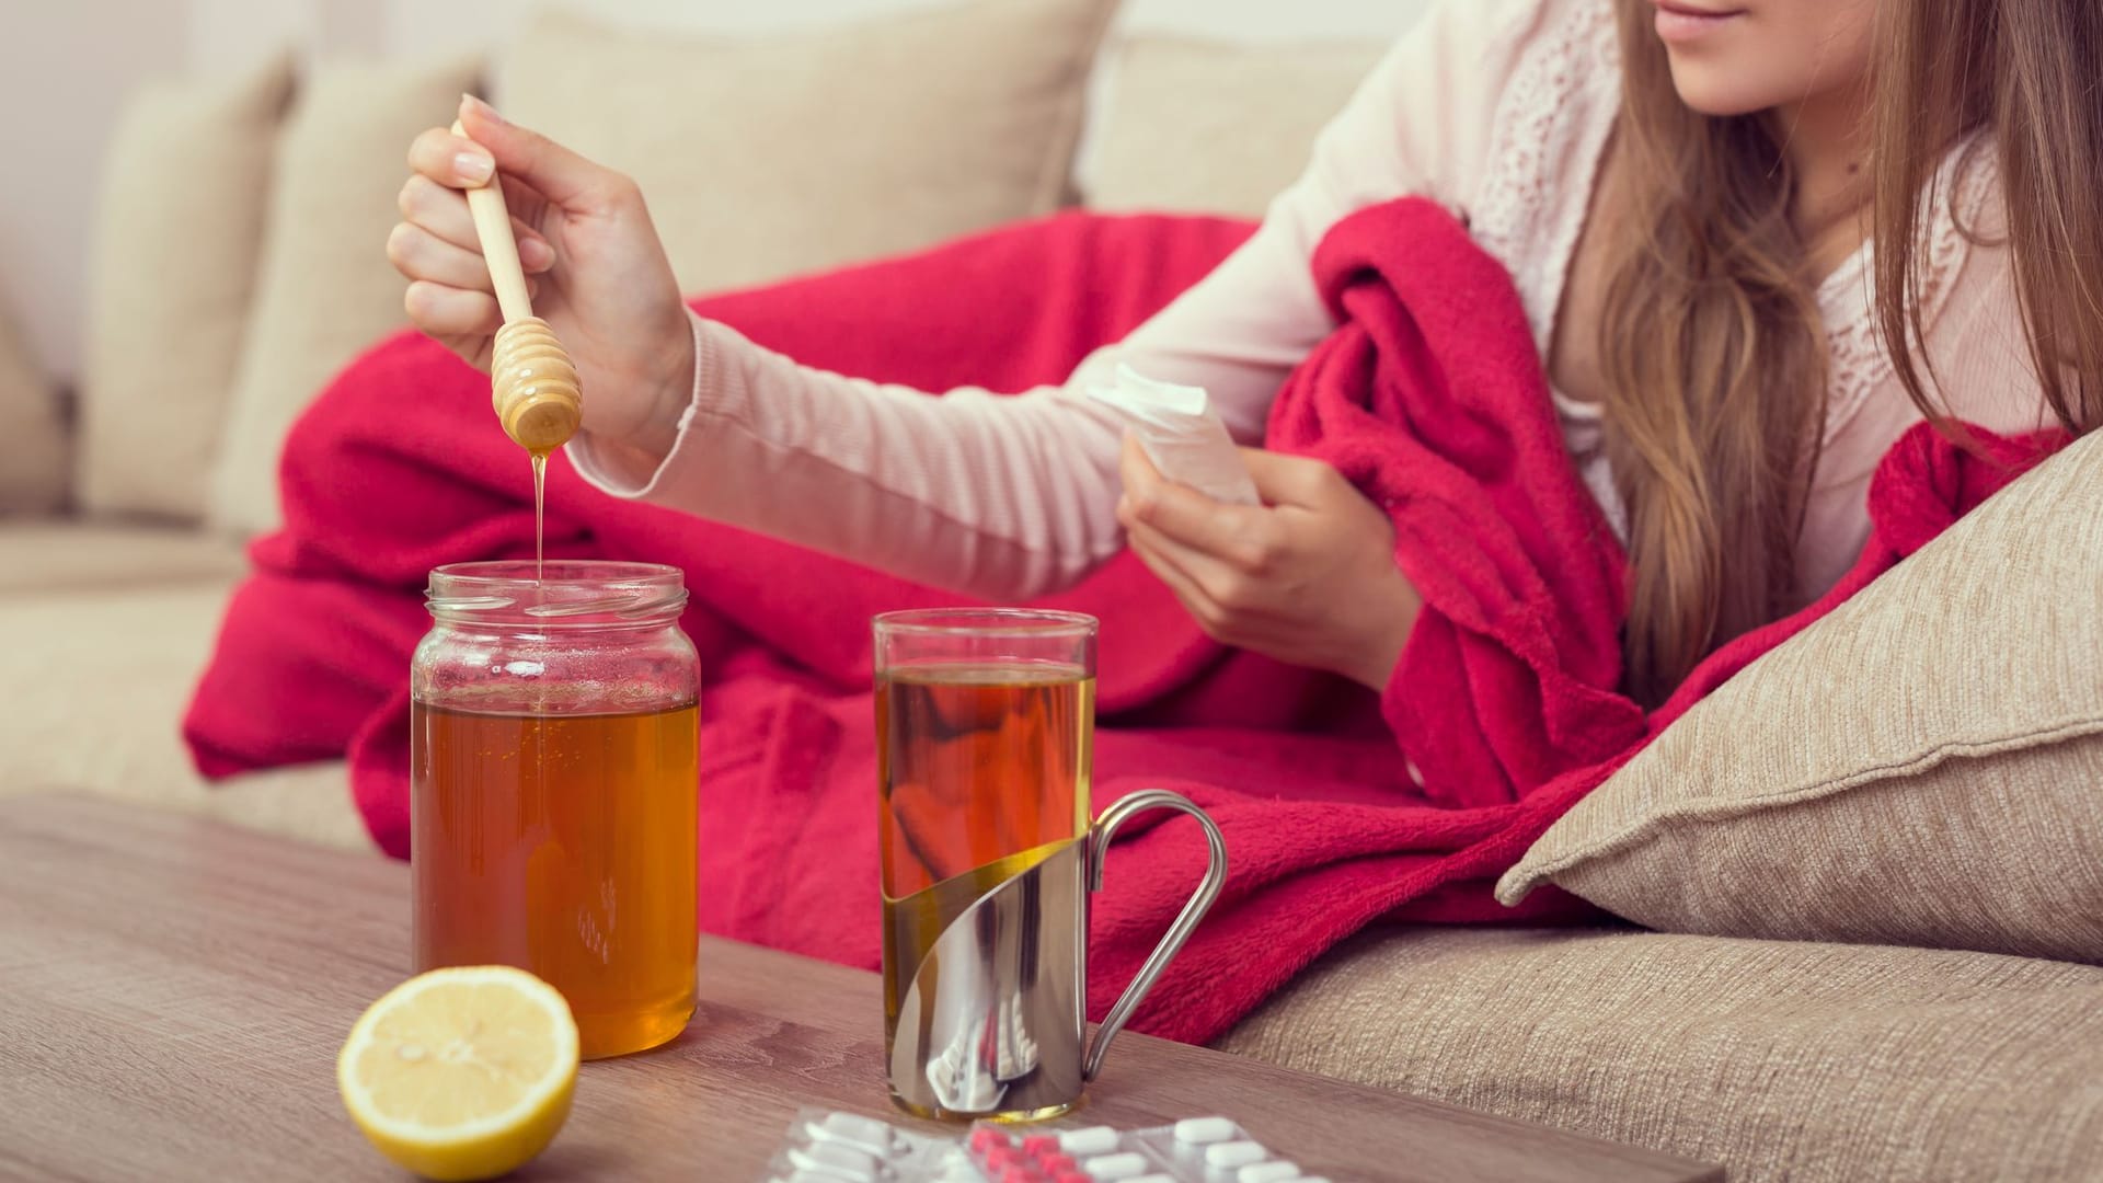
[[[978,0],[692,38],[540,17],[496,105],[635,177],[688,290],[1049,213],[1115,0]]]

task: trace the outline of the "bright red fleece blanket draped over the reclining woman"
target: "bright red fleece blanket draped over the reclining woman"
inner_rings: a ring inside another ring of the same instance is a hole
[[[1070,213],[698,307],[803,362],[923,389],[1062,379],[1249,227]],[[1272,446],[1384,503],[1424,617],[1384,699],[1211,644],[1129,556],[1047,604],[1102,619],[1098,806],[1201,802],[1232,874],[1136,1025],[1209,1040],[1375,920],[1584,916],[1489,886],[1695,699],[1935,537],[2044,444],[1981,461],[1916,432],[1872,486],[1876,537],[1806,613],[1739,638],[1649,718],[1615,693],[1624,556],[1563,453],[1510,280],[1441,208],[1363,210],[1321,246],[1342,328],[1295,373]],[[210,777],[349,756],[374,840],[408,853],[406,667],[431,566],[532,549],[524,457],[488,379],[383,343],[292,432],[284,530],[254,545],[185,720]],[[822,507],[818,507],[822,509]],[[549,554],[677,564],[702,655],[702,926],[875,966],[869,615],[967,600],[591,490],[549,465]],[[1405,760],[1407,756],[1407,760]],[[1409,773],[1415,766],[1415,777]],[[1159,817],[1159,815],[1148,815]],[[1096,901],[1102,1017],[1203,863],[1188,821],[1134,827]]]

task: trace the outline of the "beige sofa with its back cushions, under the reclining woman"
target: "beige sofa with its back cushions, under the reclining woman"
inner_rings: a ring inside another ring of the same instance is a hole
[[[63,455],[69,478],[6,493],[0,794],[90,791],[370,848],[341,764],[206,787],[177,720],[242,545],[273,518],[275,440],[400,320],[381,242],[402,143],[442,122],[452,93],[479,84],[513,118],[631,168],[700,290],[1073,200],[1258,213],[1380,53],[1176,38],[1104,51],[1108,13],[982,0],[740,44],[549,19],[488,61],[297,78],[280,61],[143,99],[114,149],[103,250],[145,253],[200,290],[147,307],[97,276],[78,427],[36,427],[50,432],[36,455]],[[158,160],[200,152],[263,196],[139,208]],[[141,375],[141,352],[185,364]],[[27,398],[21,385],[0,408]],[[53,501],[65,507],[21,509]],[[1373,930],[1222,1046],[1722,1162],[1733,1179],[2103,1177],[2103,970],[1882,939]]]

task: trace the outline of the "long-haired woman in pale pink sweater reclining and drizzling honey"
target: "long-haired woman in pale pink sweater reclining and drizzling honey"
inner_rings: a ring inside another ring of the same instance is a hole
[[[1451,0],[1241,250],[1022,398],[843,379],[692,318],[635,185],[473,99],[471,139],[412,145],[387,246],[414,322],[486,366],[498,316],[458,187],[505,173],[591,392],[570,455],[601,488],[988,598],[1129,539],[1216,638],[1377,688],[1417,608],[1386,516],[1258,450],[1266,505],[1207,501],[1083,392],[1127,360],[1260,440],[1333,328],[1316,242],[1430,196],[1516,280],[1630,549],[1628,688],[1655,701],[1838,579],[1878,457],[1922,415],[2103,415],[2099,48],[2095,0]]]

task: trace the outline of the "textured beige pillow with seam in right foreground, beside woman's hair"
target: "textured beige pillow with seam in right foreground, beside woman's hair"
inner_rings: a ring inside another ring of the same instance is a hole
[[[2103,962],[2103,440],[1689,711],[1506,874],[1680,933]]]

